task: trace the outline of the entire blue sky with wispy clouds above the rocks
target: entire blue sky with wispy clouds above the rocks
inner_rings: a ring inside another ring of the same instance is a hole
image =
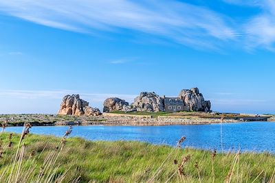
[[[275,1],[0,2],[0,114],[56,113],[79,93],[177,96],[275,113]]]

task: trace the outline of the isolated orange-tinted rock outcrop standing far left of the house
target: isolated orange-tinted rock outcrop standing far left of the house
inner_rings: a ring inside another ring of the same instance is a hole
[[[101,114],[98,108],[91,108],[89,102],[80,99],[79,95],[66,95],[63,97],[61,108],[58,111],[61,115],[86,115],[86,116],[98,116]]]

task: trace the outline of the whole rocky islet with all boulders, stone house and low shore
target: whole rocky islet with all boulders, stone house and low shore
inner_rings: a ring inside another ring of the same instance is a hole
[[[103,103],[103,113],[80,99],[80,95],[63,97],[57,114],[2,114],[0,122],[7,125],[185,125],[236,123],[243,121],[274,121],[272,115],[223,114],[211,111],[198,88],[184,89],[178,97],[160,97],[142,92],[129,103],[111,97]]]

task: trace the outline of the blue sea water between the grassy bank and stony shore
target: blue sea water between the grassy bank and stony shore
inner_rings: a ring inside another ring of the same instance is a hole
[[[63,136],[65,126],[32,127],[34,134]],[[21,133],[22,127],[7,127],[8,132]],[[186,136],[185,146],[221,150],[221,125],[169,126],[74,126],[72,136],[91,141],[142,141],[174,146]],[[223,123],[224,150],[269,151],[275,153],[275,123]]]

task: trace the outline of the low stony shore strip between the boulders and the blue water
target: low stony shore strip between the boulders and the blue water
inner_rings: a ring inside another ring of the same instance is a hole
[[[108,112],[100,116],[56,114],[0,114],[6,126],[44,125],[203,125],[239,123],[245,121],[275,121],[275,115],[230,114],[217,112]]]

